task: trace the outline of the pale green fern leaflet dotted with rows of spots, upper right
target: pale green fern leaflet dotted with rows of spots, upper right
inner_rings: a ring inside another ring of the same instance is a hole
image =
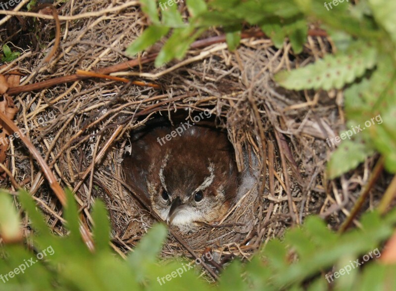
[[[373,68],[376,61],[376,49],[357,42],[349,48],[349,53],[326,55],[303,68],[280,72],[275,80],[293,90],[341,89]]]

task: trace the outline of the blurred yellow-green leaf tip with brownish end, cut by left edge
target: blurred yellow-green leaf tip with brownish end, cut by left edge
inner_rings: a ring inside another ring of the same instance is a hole
[[[0,237],[5,242],[14,242],[22,238],[20,218],[11,195],[0,189]]]

